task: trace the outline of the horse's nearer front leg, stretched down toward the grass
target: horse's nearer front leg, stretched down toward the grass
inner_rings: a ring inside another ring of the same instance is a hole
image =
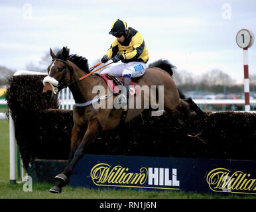
[[[70,178],[70,175],[72,174],[72,170],[76,166],[78,160],[80,160],[80,158],[82,158],[82,156],[84,155],[84,150],[86,150],[88,144],[90,144],[90,142],[93,142],[97,138],[97,134],[99,134],[99,123],[97,119],[92,119],[92,121],[89,121],[88,123],[88,128],[86,130],[86,133],[84,134],[84,137],[82,138],[82,142],[79,144],[78,148],[74,152],[74,156],[70,158],[68,166],[66,166],[64,172],[58,174],[58,176],[55,177],[57,182],[56,185],[50,189],[50,192],[60,193],[62,191],[61,188],[68,184],[68,180]]]

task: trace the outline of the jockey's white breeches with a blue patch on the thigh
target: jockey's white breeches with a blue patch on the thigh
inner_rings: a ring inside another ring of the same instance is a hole
[[[144,62],[129,62],[127,64],[117,64],[101,72],[101,74],[111,74],[117,78],[129,75],[131,78],[138,78],[145,74],[146,64]]]

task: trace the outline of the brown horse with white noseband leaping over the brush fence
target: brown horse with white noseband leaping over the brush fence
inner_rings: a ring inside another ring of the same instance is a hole
[[[42,91],[48,99],[58,93],[56,87],[58,90],[66,86],[70,87],[74,100],[78,104],[86,103],[96,97],[97,93],[93,92],[96,85],[100,84],[106,91],[109,91],[107,83],[97,75],[90,75],[88,78],[78,80],[90,73],[86,58],[77,56],[76,54],[70,55],[69,49],[64,47],[56,55],[50,49],[50,55],[52,56],[52,64],[48,67],[48,76],[44,78],[44,89]],[[165,69],[167,72],[156,66]],[[148,68],[142,77],[133,78],[133,83],[140,87],[143,87],[143,85],[147,87],[155,85],[156,91],[159,91],[160,85],[163,85],[163,105],[165,111],[170,113],[182,112],[186,115],[190,115],[194,111],[196,114],[202,115],[203,112],[192,99],[180,99],[176,85],[171,77],[173,67],[170,63],[160,62]],[[145,99],[151,100],[154,97],[157,98],[155,102],[159,103],[159,95],[153,95],[152,93],[154,92],[149,89],[148,92],[144,91],[144,95],[141,95],[142,107],[133,107],[130,109],[129,105],[124,121],[121,121],[123,120],[123,109],[114,107],[95,108],[94,105],[85,107],[75,106],[73,111],[74,127],[72,129],[68,166],[61,174],[55,177],[57,183],[50,189],[50,192],[60,193],[62,187],[68,184],[74,166],[76,166],[78,160],[83,156],[88,144],[93,142],[101,131],[110,131],[121,123],[127,123],[137,117],[145,109]],[[101,103],[103,105],[113,105],[115,98],[103,99]],[[133,98],[135,99],[135,97]],[[130,97],[130,101],[133,98]],[[136,105],[136,102],[137,100],[133,101],[133,104]],[[82,133],[84,129],[86,129],[86,132]]]

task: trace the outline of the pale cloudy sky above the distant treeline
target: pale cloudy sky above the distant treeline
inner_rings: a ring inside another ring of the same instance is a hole
[[[0,66],[15,70],[39,66],[50,48],[63,46],[94,66],[113,42],[111,25],[122,19],[143,35],[148,64],[166,59],[193,76],[218,69],[243,80],[235,37],[243,28],[256,34],[255,0],[0,0],[0,17]],[[256,44],[248,53],[250,76]]]

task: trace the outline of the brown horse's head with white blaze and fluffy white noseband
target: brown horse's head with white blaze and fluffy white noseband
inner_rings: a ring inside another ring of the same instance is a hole
[[[55,55],[50,48],[50,55],[52,56],[52,63],[48,66],[48,76],[46,76],[42,83],[44,84],[44,93],[46,99],[50,100],[60,91],[62,88],[66,87],[70,83],[70,71],[72,66],[68,62],[69,49],[63,47]]]

